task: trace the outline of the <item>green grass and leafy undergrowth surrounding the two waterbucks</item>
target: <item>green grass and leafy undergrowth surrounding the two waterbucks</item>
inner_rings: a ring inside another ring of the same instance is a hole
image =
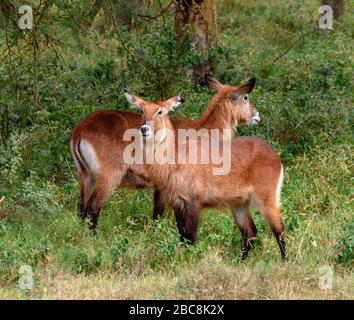
[[[223,82],[257,77],[252,101],[262,124],[240,134],[266,139],[282,157],[287,264],[256,212],[259,239],[244,262],[226,211],[203,213],[193,247],[180,245],[170,211],[151,220],[151,191],[117,190],[97,237],[76,217],[68,139],[77,121],[98,108],[127,108],[124,88],[147,99],[181,94],[179,116],[196,117],[207,105],[212,93],[185,76],[195,53],[177,57],[170,29],[130,35],[139,63],[125,61],[110,38],[97,40],[102,52],[58,29],[68,44],[60,60],[41,57],[37,88],[25,54],[25,63],[1,64],[0,298],[353,299],[353,21],[348,10],[333,30],[302,39],[317,12],[315,1],[224,0],[210,53]],[[23,265],[33,270],[31,290],[18,285]],[[332,288],[320,286],[323,266],[333,271]]]

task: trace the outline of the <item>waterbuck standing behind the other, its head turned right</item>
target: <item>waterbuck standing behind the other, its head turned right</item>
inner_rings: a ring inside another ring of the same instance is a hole
[[[255,124],[260,121],[259,113],[249,102],[248,94],[255,85],[255,79],[236,87],[222,85],[211,75],[205,76],[209,88],[216,90],[208,107],[199,119],[171,119],[176,128],[232,129],[238,124]],[[236,99],[237,92],[243,92],[243,100]],[[143,103],[139,97],[126,93],[134,105]],[[182,103],[180,97],[158,102],[171,106]],[[155,188],[153,217],[162,215],[165,204],[158,186],[149,182],[141,172],[143,166],[129,166],[123,160],[127,142],[123,141],[126,130],[140,128],[141,114],[122,111],[101,110],[90,114],[73,129],[70,148],[78,168],[80,183],[79,216],[89,217],[91,228],[95,229],[102,207],[115,188]]]

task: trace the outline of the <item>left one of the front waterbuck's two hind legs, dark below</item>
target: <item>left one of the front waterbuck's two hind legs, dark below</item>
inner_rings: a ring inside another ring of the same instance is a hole
[[[242,234],[242,244],[239,252],[241,259],[246,259],[256,240],[257,228],[253,222],[249,205],[233,209],[235,222]]]

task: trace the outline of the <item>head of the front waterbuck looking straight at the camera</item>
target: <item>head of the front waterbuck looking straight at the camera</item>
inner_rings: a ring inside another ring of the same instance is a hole
[[[140,110],[142,113],[143,124],[140,127],[140,134],[145,139],[152,138],[157,132],[164,135],[166,129],[173,130],[167,114],[183,103],[180,96],[164,101],[147,102],[128,92],[125,92],[124,95],[131,107]]]

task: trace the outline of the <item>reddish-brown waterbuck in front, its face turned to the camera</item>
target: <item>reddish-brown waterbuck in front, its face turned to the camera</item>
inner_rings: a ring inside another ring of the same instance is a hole
[[[246,94],[236,90],[233,99],[243,101]],[[150,180],[159,186],[163,201],[173,208],[181,238],[192,243],[196,241],[199,215],[203,208],[226,207],[231,209],[242,233],[240,257],[245,258],[257,233],[250,211],[250,204],[253,203],[272,229],[281,256],[286,260],[285,230],[280,212],[283,167],[274,150],[255,137],[214,140],[214,144],[219,146],[217,151],[230,149],[229,159],[226,159],[230,161],[228,172],[222,175],[214,173],[209,150],[204,156],[199,156],[199,162],[180,164],[177,156],[180,159],[180,146],[184,143],[178,141],[177,131],[181,129],[177,130],[167,115],[175,105],[150,103],[140,98],[132,98],[131,103],[143,111],[144,125],[140,135],[143,137],[141,146],[145,149],[145,157],[149,154],[155,157],[155,163],[144,164],[145,170]],[[205,145],[198,141],[194,146],[201,155]],[[159,161],[166,150],[174,155],[173,161]],[[206,162],[206,159],[209,161]]]

